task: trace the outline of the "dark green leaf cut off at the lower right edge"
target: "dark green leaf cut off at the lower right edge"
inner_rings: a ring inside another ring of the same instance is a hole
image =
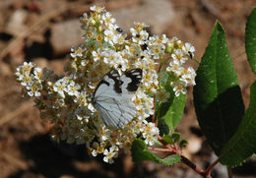
[[[251,86],[249,107],[237,132],[224,146],[220,161],[224,165],[236,166],[256,152],[256,82]]]

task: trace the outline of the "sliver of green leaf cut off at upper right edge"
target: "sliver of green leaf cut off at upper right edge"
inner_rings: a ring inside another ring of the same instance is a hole
[[[256,8],[252,10],[246,24],[245,50],[252,72],[256,75]]]

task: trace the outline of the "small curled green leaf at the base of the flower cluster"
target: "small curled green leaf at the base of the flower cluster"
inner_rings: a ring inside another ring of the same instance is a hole
[[[163,159],[152,153],[147,145],[141,139],[136,139],[132,145],[132,157],[134,162],[142,160],[153,160],[165,165],[172,165],[173,163],[179,162],[181,157],[179,154],[171,154]]]

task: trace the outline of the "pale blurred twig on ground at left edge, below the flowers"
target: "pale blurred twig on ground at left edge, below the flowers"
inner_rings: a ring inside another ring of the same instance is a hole
[[[6,116],[2,117],[0,119],[0,127],[2,125],[4,125],[5,123],[7,123],[8,121],[12,120],[13,118],[17,117],[18,115],[22,114],[29,108],[31,108],[32,104],[33,104],[32,101],[25,102],[18,109],[14,110],[13,112],[8,113]]]

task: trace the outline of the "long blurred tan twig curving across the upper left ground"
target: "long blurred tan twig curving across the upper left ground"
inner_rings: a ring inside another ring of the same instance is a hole
[[[97,3],[98,6],[105,6],[107,9],[117,9],[120,7],[127,7],[127,6],[133,6],[136,3],[139,3],[141,0],[135,0],[135,1],[121,1],[116,3],[115,1],[113,2],[108,2],[108,3]],[[0,60],[6,57],[12,49],[15,49],[17,45],[20,44],[20,41],[23,40],[24,38],[28,37],[29,35],[32,34],[32,32],[36,30],[40,30],[42,28],[46,28],[49,26],[48,21],[54,17],[59,16],[60,14],[66,12],[66,11],[71,11],[71,10],[76,10],[78,9],[79,11],[88,11],[89,8],[92,6],[90,5],[84,5],[81,2],[77,3],[68,3],[63,5],[60,8],[54,9],[44,16],[40,17],[34,24],[32,24],[31,27],[29,27],[27,30],[21,31],[21,33],[18,33],[16,37],[14,37],[8,44],[7,46],[2,50],[0,53]]]

